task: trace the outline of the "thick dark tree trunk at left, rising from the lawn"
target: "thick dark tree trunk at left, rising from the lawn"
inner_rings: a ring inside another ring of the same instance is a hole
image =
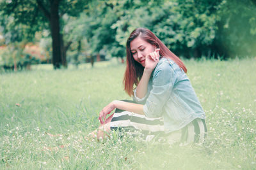
[[[60,17],[59,17],[59,1],[55,0],[51,3],[51,36],[52,36],[52,64],[54,69],[61,66],[61,36],[60,36]]]

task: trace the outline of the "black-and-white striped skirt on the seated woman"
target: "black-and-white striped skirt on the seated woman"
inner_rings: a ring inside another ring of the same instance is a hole
[[[140,135],[146,141],[165,136],[169,143],[202,143],[206,137],[207,127],[205,120],[196,118],[179,131],[166,134],[164,132],[163,118],[148,118],[145,115],[116,110],[110,122],[112,131],[130,132]]]

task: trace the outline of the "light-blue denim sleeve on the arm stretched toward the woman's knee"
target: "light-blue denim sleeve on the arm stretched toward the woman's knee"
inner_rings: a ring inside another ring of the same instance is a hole
[[[162,116],[164,104],[172,93],[176,79],[177,75],[170,63],[165,61],[157,64],[153,74],[152,90],[143,106],[146,117]]]

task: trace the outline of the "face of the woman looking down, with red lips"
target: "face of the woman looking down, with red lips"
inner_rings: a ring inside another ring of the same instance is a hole
[[[146,55],[155,51],[156,46],[144,41],[140,37],[137,37],[131,41],[131,52],[134,60],[139,62],[145,67]]]

